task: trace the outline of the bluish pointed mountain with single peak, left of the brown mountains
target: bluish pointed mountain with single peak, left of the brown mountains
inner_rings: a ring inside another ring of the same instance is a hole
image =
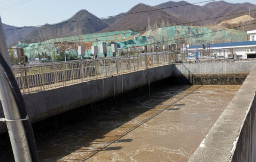
[[[80,10],[74,16],[60,24],[37,28],[30,32],[25,39],[30,40],[31,42],[38,39],[44,41],[53,38],[91,34],[107,27],[108,24],[101,19],[98,19],[95,15],[87,10]]]

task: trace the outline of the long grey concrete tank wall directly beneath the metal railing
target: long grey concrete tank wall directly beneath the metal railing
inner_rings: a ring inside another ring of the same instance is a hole
[[[72,109],[142,87],[150,82],[172,76],[172,65],[154,67],[134,73],[97,79],[24,95],[24,101],[31,122],[40,121]],[[122,82],[123,81],[123,82]],[[122,88],[123,85],[123,88]],[[115,89],[115,92],[114,92]],[[4,117],[0,104],[0,118]],[[0,133],[6,131],[6,124],[0,122]]]

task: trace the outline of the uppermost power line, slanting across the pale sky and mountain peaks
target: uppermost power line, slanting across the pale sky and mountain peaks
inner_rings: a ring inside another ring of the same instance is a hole
[[[30,0],[28,0],[28,1],[30,1]],[[128,16],[128,15],[138,14],[138,13],[143,13],[143,12],[153,12],[153,11],[164,10],[164,9],[168,9],[168,8],[176,8],[176,7],[181,7],[181,6],[189,6],[189,5],[192,5],[192,4],[200,4],[200,3],[213,2],[213,1],[217,1],[217,0],[207,0],[207,1],[203,1],[203,2],[196,2],[196,3],[191,3],[191,4],[182,4],[182,5],[178,5],[178,6],[158,8],[158,9],[148,10],[148,11],[132,12],[132,13],[120,14],[120,15],[114,15],[114,16],[105,16],[105,17],[100,17],[100,18],[91,18],[91,19],[86,19],[86,20],[60,22],[60,23],[57,23],[57,24],[44,24],[44,25],[37,25],[37,26],[26,26],[26,27],[6,29],[6,30],[18,30],[18,29],[25,29],[25,28],[41,27],[41,26],[54,26],[54,25],[59,25],[59,24],[67,24],[67,23],[73,23],[73,22],[85,22],[85,21],[90,21],[90,20],[97,20],[97,19],[117,17],[117,16]],[[4,30],[4,31],[6,31],[6,30]]]

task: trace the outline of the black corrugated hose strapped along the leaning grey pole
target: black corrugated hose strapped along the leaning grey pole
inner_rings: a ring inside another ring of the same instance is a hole
[[[12,73],[12,69],[6,63],[6,61],[5,61],[4,57],[2,56],[1,52],[0,52],[0,67],[4,71],[4,75],[6,76],[6,79],[7,79],[8,83],[11,87],[12,94],[14,95],[14,99],[15,99],[16,104],[18,106],[18,109],[20,111],[21,119],[26,119],[28,114],[27,114],[24,99],[23,99],[22,94],[20,92],[20,88],[18,87],[16,79],[15,79],[13,73]],[[27,139],[28,139],[28,145],[29,145],[29,148],[30,148],[32,161],[33,162],[39,162],[32,125],[31,125],[29,120],[22,121],[22,123],[23,123],[25,131],[26,131],[26,136],[27,136]]]

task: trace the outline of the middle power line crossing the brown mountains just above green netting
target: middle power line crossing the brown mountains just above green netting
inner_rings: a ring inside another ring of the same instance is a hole
[[[256,10],[252,10],[252,11],[256,11]],[[235,13],[235,14],[229,14],[229,15],[225,15],[225,16],[217,16],[217,17],[214,17],[214,18],[208,18],[208,19],[203,19],[203,20],[196,20],[196,21],[192,21],[192,22],[184,22],[184,23],[170,25],[170,26],[179,26],[179,25],[184,25],[184,24],[191,24],[191,23],[194,23],[194,22],[201,22],[201,21],[206,21],[206,20],[211,20],[211,19],[216,19],[216,18],[221,18],[221,17],[226,17],[226,16],[232,16],[232,15],[242,14],[242,13],[247,13],[247,12],[238,12],[238,13]],[[165,27],[170,27],[170,26],[165,26]],[[153,28],[151,30],[156,30],[156,29],[159,29],[159,28],[163,28],[163,27]],[[137,31],[132,31],[132,32],[120,33],[120,34],[129,34],[129,33],[134,33],[134,32],[143,32],[143,31],[146,31],[146,30],[137,30]],[[117,35],[117,34],[110,34],[108,36],[115,36],[115,35]],[[70,41],[82,41],[82,40],[88,40],[88,39],[96,39],[96,38],[102,38],[102,37],[108,37],[108,36],[97,36],[97,37],[91,37],[91,38],[69,40],[67,42],[70,42]],[[56,38],[54,38],[54,39],[56,39]],[[54,39],[52,39],[52,40],[54,40]],[[52,43],[45,43],[44,45],[47,45],[47,44],[52,44]],[[29,47],[33,47],[33,46],[36,46],[36,45],[31,45]]]

